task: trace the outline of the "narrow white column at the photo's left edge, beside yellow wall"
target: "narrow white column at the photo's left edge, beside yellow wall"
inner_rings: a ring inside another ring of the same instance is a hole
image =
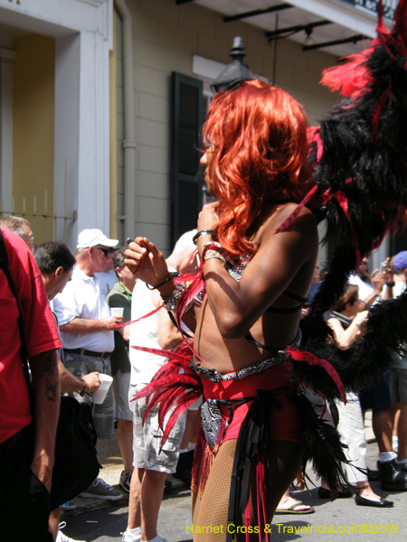
[[[14,51],[0,49],[0,197],[11,213],[13,193],[13,67]]]

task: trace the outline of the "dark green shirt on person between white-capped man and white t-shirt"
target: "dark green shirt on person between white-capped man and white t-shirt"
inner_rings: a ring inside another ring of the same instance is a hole
[[[110,308],[123,307],[123,322],[130,322],[131,293],[119,282],[110,290],[108,304]],[[128,358],[128,341],[125,341],[119,332],[115,332],[115,350],[110,354],[110,363],[112,375],[116,375],[118,370],[121,372],[130,372],[131,370]]]

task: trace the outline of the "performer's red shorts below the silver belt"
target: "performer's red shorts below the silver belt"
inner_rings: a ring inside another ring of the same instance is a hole
[[[258,389],[269,390],[280,403],[278,408],[270,406],[270,438],[299,443],[303,433],[303,425],[296,401],[296,393],[289,384],[289,374],[285,363],[279,363],[259,374],[237,380],[222,380],[213,382],[202,377],[204,398],[206,399],[239,399],[255,397]],[[237,439],[241,423],[246,417],[251,401],[233,410],[232,423],[226,430],[223,441]],[[220,405],[222,415],[227,420],[229,410]]]

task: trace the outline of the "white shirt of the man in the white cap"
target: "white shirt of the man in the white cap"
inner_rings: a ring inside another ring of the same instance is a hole
[[[97,276],[87,276],[78,266],[73,269],[71,281],[62,294],[53,299],[53,310],[59,325],[71,322],[74,318],[100,320],[110,316],[106,301],[108,286],[100,283]],[[113,332],[72,333],[61,332],[64,348],[84,348],[94,352],[111,352],[115,347]]]

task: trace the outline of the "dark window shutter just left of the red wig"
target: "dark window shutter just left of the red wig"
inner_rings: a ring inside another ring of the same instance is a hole
[[[172,73],[171,121],[171,244],[196,228],[202,208],[199,169],[200,132],[204,122],[204,84],[182,73]]]

